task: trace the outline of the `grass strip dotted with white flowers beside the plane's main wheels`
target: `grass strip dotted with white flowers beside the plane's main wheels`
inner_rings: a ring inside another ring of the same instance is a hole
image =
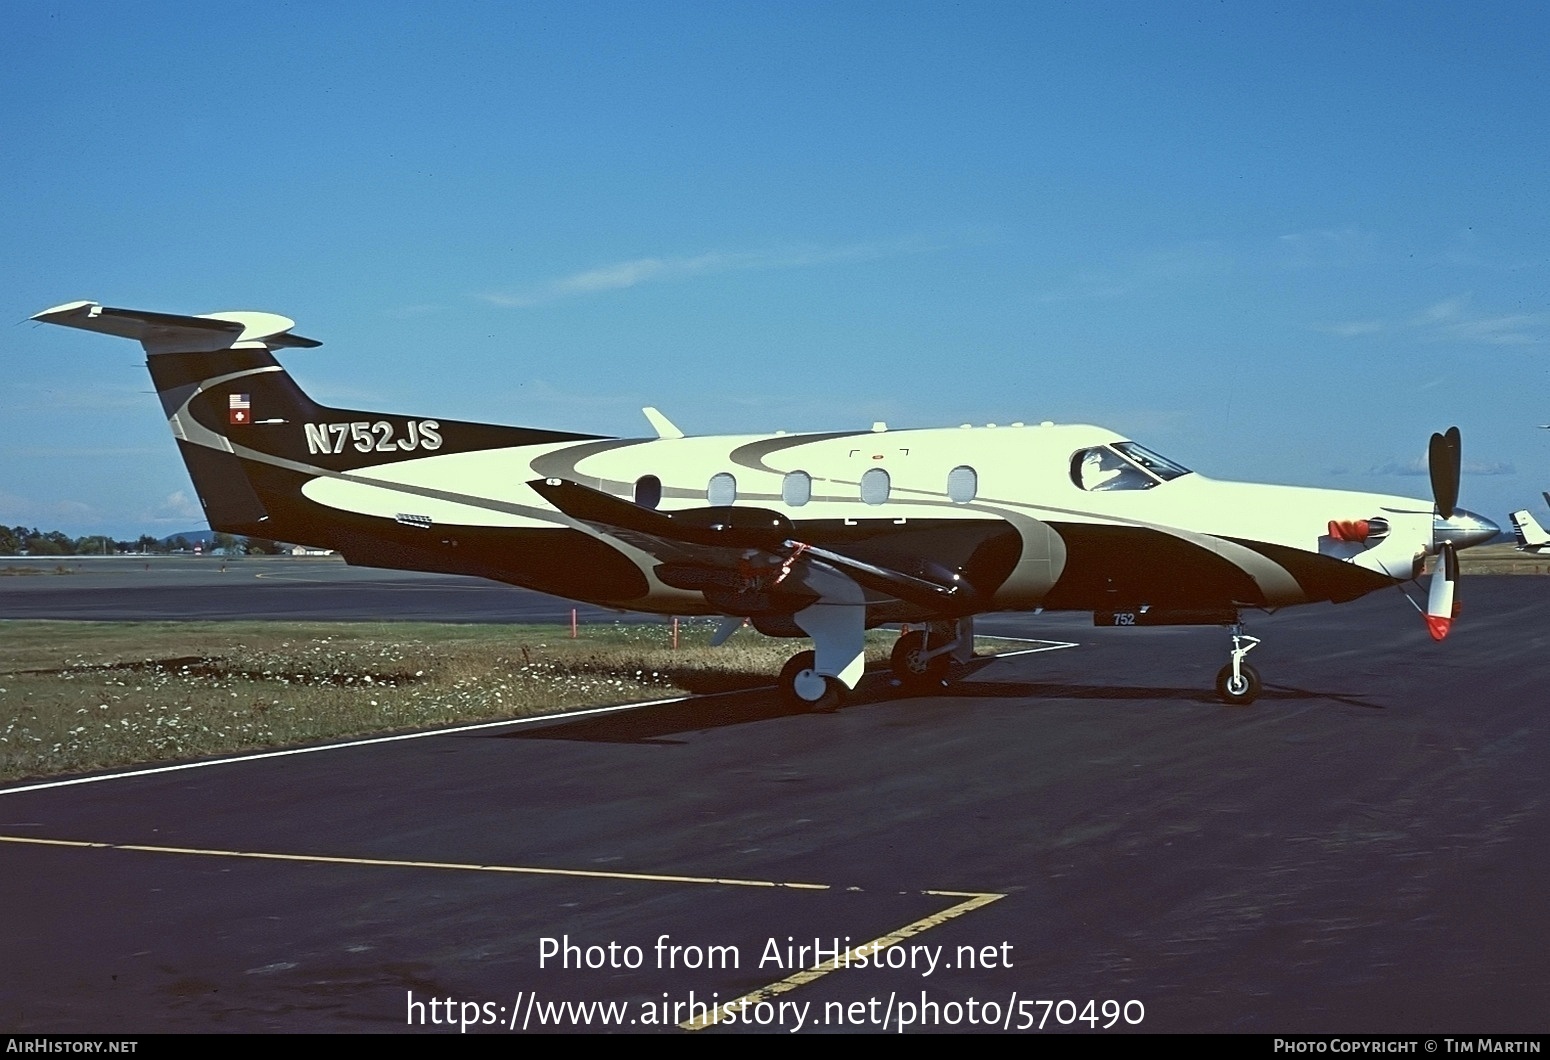
[[[808,646],[713,631],[0,621],[0,781],[755,688]]]

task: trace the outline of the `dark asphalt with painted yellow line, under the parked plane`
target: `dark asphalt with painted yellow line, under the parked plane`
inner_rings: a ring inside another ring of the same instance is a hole
[[[1254,623],[1248,708],[1220,631],[1018,615],[1076,646],[835,714],[0,789],[0,1026],[1544,1032],[1550,580],[1462,598],[1442,645],[1398,594]]]

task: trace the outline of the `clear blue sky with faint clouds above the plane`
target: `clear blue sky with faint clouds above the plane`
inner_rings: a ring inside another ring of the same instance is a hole
[[[26,3],[0,299],[284,313],[321,401],[1093,422],[1550,488],[1539,3]],[[0,329],[0,522],[202,525],[138,347]],[[1545,513],[1541,510],[1541,515]]]

